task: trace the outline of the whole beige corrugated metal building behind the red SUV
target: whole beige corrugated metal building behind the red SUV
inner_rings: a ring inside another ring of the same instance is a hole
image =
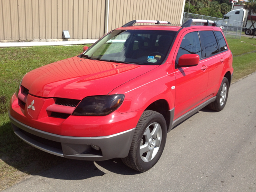
[[[185,0],[0,0],[0,41],[98,39],[131,20],[181,24]]]

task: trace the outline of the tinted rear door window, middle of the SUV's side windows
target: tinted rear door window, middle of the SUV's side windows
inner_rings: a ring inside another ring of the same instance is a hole
[[[202,37],[200,38],[204,42],[204,56],[208,57],[212,54],[218,53],[218,44],[216,41],[216,38],[214,36],[213,31],[202,31],[201,32]]]

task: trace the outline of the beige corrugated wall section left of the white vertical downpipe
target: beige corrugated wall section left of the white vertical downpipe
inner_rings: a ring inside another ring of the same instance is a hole
[[[105,0],[0,0],[0,40],[100,38],[104,18]]]

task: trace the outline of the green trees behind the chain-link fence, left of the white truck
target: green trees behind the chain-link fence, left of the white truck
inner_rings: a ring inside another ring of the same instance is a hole
[[[188,12],[189,0],[186,0],[184,12]],[[223,18],[231,10],[229,0],[190,0],[189,12],[211,17]]]

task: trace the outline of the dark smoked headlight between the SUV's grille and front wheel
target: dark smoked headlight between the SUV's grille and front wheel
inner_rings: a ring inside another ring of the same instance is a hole
[[[123,101],[123,94],[86,97],[78,104],[72,115],[105,116],[120,107]]]

